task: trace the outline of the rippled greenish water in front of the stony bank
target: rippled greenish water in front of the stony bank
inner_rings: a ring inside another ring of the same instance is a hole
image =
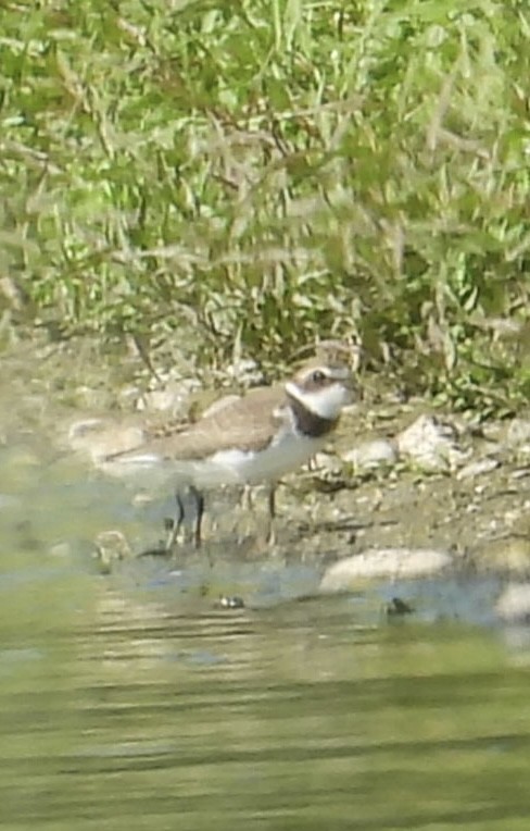
[[[2,831],[528,828],[530,653],[493,580],[315,597],[303,551],[232,545],[103,575],[96,534],[148,514],[48,456],[0,449]]]

